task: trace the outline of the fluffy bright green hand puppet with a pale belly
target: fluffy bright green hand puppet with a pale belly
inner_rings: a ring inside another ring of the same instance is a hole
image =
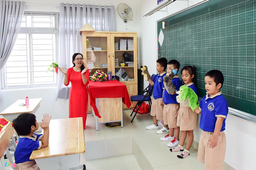
[[[199,103],[197,103],[198,97],[195,91],[193,91],[188,86],[180,86],[177,94],[179,94],[178,96],[176,96],[177,102],[182,104],[183,106],[190,107],[193,112],[196,108],[199,107]]]

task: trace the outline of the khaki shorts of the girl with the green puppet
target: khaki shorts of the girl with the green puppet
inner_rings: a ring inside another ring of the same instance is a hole
[[[190,107],[184,107],[180,104],[179,114],[177,117],[177,126],[180,130],[195,130],[197,114]]]

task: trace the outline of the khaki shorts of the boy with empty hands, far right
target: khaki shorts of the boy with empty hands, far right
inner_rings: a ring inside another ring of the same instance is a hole
[[[226,154],[226,135],[224,131],[218,136],[217,146],[209,148],[208,143],[213,132],[202,131],[198,146],[197,160],[205,164],[206,170],[222,170]]]

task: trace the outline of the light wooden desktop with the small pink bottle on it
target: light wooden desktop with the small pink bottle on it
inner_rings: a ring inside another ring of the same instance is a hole
[[[25,99],[20,99],[14,102],[7,109],[2,111],[2,115],[6,120],[12,122],[13,119],[18,117],[22,113],[33,113],[35,114],[38,108],[40,107],[40,102],[43,98],[29,99],[29,106],[19,106],[20,103],[25,103]],[[18,134],[16,133],[17,141],[19,140]]]

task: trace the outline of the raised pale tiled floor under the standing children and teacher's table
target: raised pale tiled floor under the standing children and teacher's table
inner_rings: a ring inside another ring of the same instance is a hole
[[[101,126],[99,126],[98,131],[96,131],[95,128],[94,117],[91,116],[91,114],[88,114],[86,128],[84,130],[85,141],[132,136],[137,142],[142,152],[146,155],[147,159],[157,170],[165,170],[172,168],[187,170],[204,169],[204,164],[197,161],[197,149],[191,147],[190,155],[188,157],[186,157],[185,159],[177,158],[177,154],[180,154],[181,152],[170,152],[170,148],[167,146],[168,141],[164,142],[160,140],[160,137],[163,137],[166,134],[158,135],[156,134],[157,129],[147,130],[145,128],[146,126],[151,125],[153,123],[153,119],[150,113],[143,115],[137,114],[133,123],[131,123],[131,112],[132,110],[123,111],[123,128],[106,128],[104,124],[101,124]],[[115,157],[113,157],[113,159],[115,159]],[[97,162],[97,160],[92,161]],[[86,167],[87,166],[88,165],[86,165]]]

